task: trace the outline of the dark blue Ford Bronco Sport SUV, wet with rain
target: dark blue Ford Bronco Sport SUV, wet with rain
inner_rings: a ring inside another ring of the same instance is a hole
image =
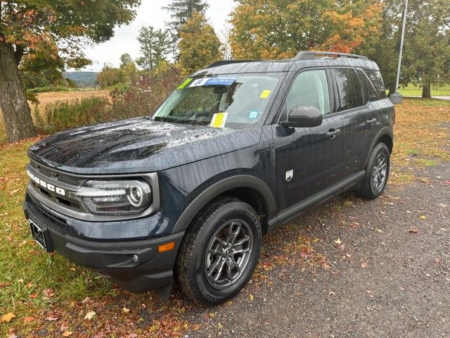
[[[30,147],[34,239],[130,292],[230,299],[262,235],[347,189],[375,199],[394,108],[364,56],[219,61],[151,117],[60,132]]]

